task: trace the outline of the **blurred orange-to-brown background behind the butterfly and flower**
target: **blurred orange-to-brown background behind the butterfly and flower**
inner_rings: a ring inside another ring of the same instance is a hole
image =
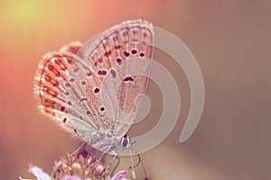
[[[55,160],[79,147],[36,108],[33,76],[43,54],[138,18],[171,31],[192,50],[206,91],[201,121],[181,144],[189,85],[173,59],[155,51],[179,86],[182,109],[172,133],[142,155],[151,179],[270,179],[270,16],[268,0],[1,1],[1,179],[31,178],[30,162],[50,173]],[[151,82],[147,94],[151,111],[132,127],[132,137],[160,118],[158,86]]]

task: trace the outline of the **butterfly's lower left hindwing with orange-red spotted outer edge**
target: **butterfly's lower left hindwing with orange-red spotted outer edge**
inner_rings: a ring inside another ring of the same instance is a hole
[[[96,74],[75,55],[79,42],[43,56],[34,77],[34,96],[40,100],[42,112],[72,133],[77,132],[83,140],[96,137],[100,126],[97,108],[100,96],[88,106],[86,88],[100,85]],[[91,121],[89,121],[91,120]],[[89,140],[91,141],[91,140]]]

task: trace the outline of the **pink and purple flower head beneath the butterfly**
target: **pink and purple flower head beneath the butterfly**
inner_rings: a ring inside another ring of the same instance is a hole
[[[127,170],[123,169],[116,175],[110,177],[102,158],[94,156],[94,150],[91,149],[86,153],[86,148],[80,148],[79,153],[67,154],[67,157],[61,157],[61,160],[52,166],[51,175],[42,171],[38,166],[30,165],[28,172],[34,175],[37,180],[126,180]],[[19,180],[23,180],[19,177]]]

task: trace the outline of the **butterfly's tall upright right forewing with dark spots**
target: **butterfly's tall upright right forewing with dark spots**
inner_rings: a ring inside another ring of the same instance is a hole
[[[152,24],[135,20],[104,31],[84,46],[85,58],[102,82],[100,106],[106,120],[114,123],[105,130],[111,135],[122,137],[135,119],[140,105],[137,97],[145,94],[148,82],[153,44]]]

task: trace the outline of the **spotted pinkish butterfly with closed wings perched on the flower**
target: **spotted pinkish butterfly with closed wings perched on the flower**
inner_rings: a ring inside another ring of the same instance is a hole
[[[45,54],[34,76],[39,109],[91,147],[112,153],[135,120],[153,58],[151,23],[133,20]],[[130,60],[132,59],[132,60]]]

